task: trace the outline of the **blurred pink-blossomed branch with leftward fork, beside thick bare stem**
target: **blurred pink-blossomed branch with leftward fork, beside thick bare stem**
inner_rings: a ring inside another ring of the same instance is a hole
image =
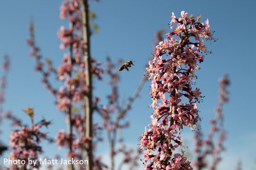
[[[86,9],[88,10],[88,7],[86,7]],[[67,153],[67,156],[69,158],[76,157],[77,159],[82,159],[83,157],[81,150],[92,153],[92,136],[86,137],[84,134],[87,133],[88,130],[93,132],[93,130],[96,129],[96,125],[92,124],[92,121],[88,122],[88,120],[90,120],[88,117],[81,116],[81,114],[78,113],[77,110],[79,109],[77,108],[80,106],[82,110],[86,110],[90,107],[90,113],[92,114],[92,108],[97,105],[97,100],[94,100],[95,102],[91,102],[89,107],[84,105],[86,103],[86,98],[89,98],[90,101],[93,100],[92,95],[89,95],[88,93],[92,92],[92,85],[87,85],[87,78],[88,76],[95,76],[96,78],[101,79],[100,74],[103,72],[103,70],[99,68],[100,63],[96,61],[96,59],[89,58],[87,63],[84,60],[84,51],[87,51],[88,49],[84,48],[85,40],[83,35],[85,33],[82,29],[82,11],[82,5],[80,4],[79,0],[64,0],[64,2],[61,4],[60,18],[68,18],[69,28],[61,26],[60,30],[58,31],[58,38],[61,40],[60,49],[68,48],[68,54],[64,55],[62,64],[58,67],[58,69],[56,69],[56,71],[54,71],[57,74],[57,78],[60,81],[63,81],[64,85],[61,86],[59,90],[51,90],[56,96],[57,109],[67,115],[68,133],[66,133],[64,130],[60,130],[56,136],[57,144],[60,147],[68,147],[69,152]],[[45,73],[41,67],[43,64],[39,60],[41,55],[37,53],[39,48],[35,46],[33,28],[34,26],[32,23],[30,24],[30,38],[28,40],[28,44],[32,47],[33,52],[31,55],[36,58],[36,68],[38,68],[38,65],[40,66],[37,70],[41,71],[45,76],[48,75],[48,72]],[[51,63],[48,65],[51,65]],[[44,80],[47,87],[52,89],[50,82],[45,78]],[[86,125],[89,125],[91,130],[86,128]],[[73,132],[73,129],[76,133]],[[95,135],[95,133],[92,135]],[[91,147],[88,148],[89,145]],[[98,158],[95,158],[95,160],[92,161],[92,156],[89,156],[86,159],[89,160],[88,162],[91,165],[94,161],[98,162],[94,165],[97,168],[100,168],[102,165]],[[74,167],[71,166],[71,169],[74,169]]]

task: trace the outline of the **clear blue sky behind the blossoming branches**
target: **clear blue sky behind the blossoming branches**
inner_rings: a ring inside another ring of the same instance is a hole
[[[59,19],[61,3],[61,0],[4,0],[0,6],[0,56],[8,54],[11,58],[4,108],[10,109],[18,117],[24,118],[25,122],[29,122],[29,118],[24,116],[21,109],[26,108],[28,104],[34,107],[37,113],[35,119],[40,120],[44,116],[46,120],[53,120],[52,126],[48,129],[52,137],[60,127],[66,129],[64,115],[56,110],[54,97],[40,84],[41,75],[34,71],[35,61],[28,56],[30,49],[26,45],[26,39],[29,34],[29,18],[33,16],[36,43],[41,48],[42,55],[51,57],[55,67],[60,64],[65,51],[59,49],[60,41],[56,33],[61,25],[67,25],[67,22]],[[208,18],[211,29],[216,31],[214,37],[219,40],[211,45],[207,44],[208,50],[212,50],[213,53],[205,57],[200,65],[201,70],[196,72],[196,86],[205,96],[204,101],[198,105],[203,117],[202,130],[204,133],[208,132],[208,120],[213,117],[213,109],[218,100],[218,79],[227,73],[231,79],[231,86],[228,89],[230,101],[224,106],[224,127],[228,131],[224,145],[227,150],[222,154],[223,160],[219,169],[234,169],[238,160],[242,161],[243,169],[253,169],[256,167],[256,92],[253,88],[256,84],[256,59],[253,52],[256,38],[255,6],[255,1],[251,0],[184,0],[182,3],[168,0],[91,2],[90,9],[97,13],[95,22],[100,27],[100,32],[92,36],[92,56],[102,64],[105,63],[106,55],[109,55],[112,61],[118,58],[125,61],[133,58],[136,61],[129,72],[120,72],[120,94],[127,98],[133,93],[144,73],[144,66],[151,56],[154,33],[160,27],[165,29],[165,33],[169,32],[167,24],[171,20],[172,12],[176,17],[180,16],[180,11],[185,11],[189,14],[202,14],[201,21]],[[59,87],[60,84],[55,85]],[[147,107],[151,104],[148,95],[149,85],[149,82],[144,85],[140,93],[141,98],[135,100],[127,117],[131,126],[124,130],[125,142],[134,148],[137,148],[137,140],[144,132],[144,127],[151,122],[149,116],[153,109]],[[107,88],[105,82],[95,81],[94,95],[102,97],[103,104],[106,100],[102,94],[107,94],[106,90],[103,91]],[[1,141],[5,144],[8,144],[10,135],[10,129],[5,129],[8,125],[8,122],[1,124],[1,129],[4,129]],[[192,136],[193,132],[190,130],[183,133],[183,139],[188,141],[191,151]],[[99,146],[97,152],[106,155],[107,151],[102,149],[104,147],[106,145]],[[54,144],[44,150],[49,156],[56,152],[64,153],[57,150]]]

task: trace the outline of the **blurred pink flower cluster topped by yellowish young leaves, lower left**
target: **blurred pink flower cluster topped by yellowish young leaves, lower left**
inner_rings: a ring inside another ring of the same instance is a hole
[[[25,164],[18,165],[12,164],[11,169],[30,169],[39,168],[39,161],[36,162],[35,166],[28,164],[28,159],[36,160],[38,155],[43,152],[42,147],[39,143],[47,139],[46,133],[40,131],[42,126],[48,126],[50,122],[46,122],[44,119],[40,122],[33,124],[34,110],[28,107],[23,110],[31,118],[31,128],[22,126],[21,129],[15,129],[12,131],[10,136],[9,146],[11,147],[10,158],[12,160],[24,160]]]

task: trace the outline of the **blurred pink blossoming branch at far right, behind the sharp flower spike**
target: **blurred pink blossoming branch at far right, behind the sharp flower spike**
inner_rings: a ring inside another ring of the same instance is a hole
[[[197,153],[197,159],[195,162],[195,167],[198,170],[201,170],[205,167],[209,167],[209,169],[214,170],[216,166],[220,162],[220,153],[225,150],[223,147],[223,141],[226,139],[227,132],[223,127],[223,114],[222,109],[224,103],[228,102],[228,91],[227,87],[229,85],[228,76],[225,75],[224,78],[219,81],[219,101],[217,103],[217,107],[215,108],[215,118],[210,120],[211,127],[210,133],[207,135],[206,139],[203,139],[203,134],[201,131],[196,131],[195,139],[196,139],[196,148],[195,152]],[[217,142],[214,142],[214,135],[219,134],[217,138]],[[212,165],[207,166],[205,158],[207,155],[212,156]]]

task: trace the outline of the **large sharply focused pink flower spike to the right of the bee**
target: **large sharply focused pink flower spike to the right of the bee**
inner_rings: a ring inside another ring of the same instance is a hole
[[[147,68],[151,82],[150,107],[154,109],[151,115],[150,129],[140,137],[140,148],[144,149],[145,169],[192,169],[190,162],[184,157],[181,137],[178,136],[183,126],[191,130],[198,128],[197,102],[202,101],[199,88],[193,90],[195,70],[199,70],[198,62],[204,61],[202,53],[206,50],[204,41],[215,39],[208,24],[199,22],[201,15],[195,17],[181,12],[176,18],[172,13],[170,33],[167,39],[156,46],[154,59],[149,61]],[[172,26],[172,24],[176,26]],[[175,38],[176,37],[176,38]],[[191,39],[194,37],[194,39]],[[178,38],[178,39],[177,39]],[[166,57],[164,57],[164,55]],[[181,101],[187,102],[181,102]],[[174,154],[177,147],[182,154]]]

